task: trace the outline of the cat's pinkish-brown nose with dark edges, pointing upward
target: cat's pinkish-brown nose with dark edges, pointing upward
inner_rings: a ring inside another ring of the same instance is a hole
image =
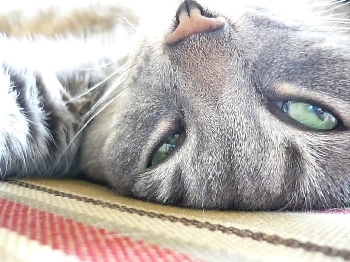
[[[165,43],[168,45],[176,44],[195,33],[218,30],[226,23],[223,17],[206,17],[203,8],[192,0],[185,0],[180,5],[176,19],[178,21],[177,27],[165,39]]]

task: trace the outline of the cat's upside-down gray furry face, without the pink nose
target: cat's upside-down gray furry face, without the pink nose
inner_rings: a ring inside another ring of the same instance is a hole
[[[295,8],[306,13],[295,14],[300,21],[198,1],[203,16],[224,24],[168,43],[181,3],[147,28],[124,91],[87,129],[90,176],[122,194],[195,208],[349,205],[350,39],[337,29],[347,24],[333,19],[330,30],[314,17],[333,5]],[[157,153],[166,141],[173,149]]]

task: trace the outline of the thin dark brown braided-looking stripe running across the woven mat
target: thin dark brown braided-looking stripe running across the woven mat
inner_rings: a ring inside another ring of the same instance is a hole
[[[147,212],[144,210],[136,209],[136,208],[130,208],[126,206],[121,206],[118,204],[113,204],[109,202],[104,202],[101,200],[96,200],[93,198],[88,198],[88,197],[81,197],[78,195],[73,195],[70,193],[65,193],[61,192],[58,190],[53,190],[50,188],[34,185],[34,184],[29,184],[21,181],[10,181],[10,184],[18,185],[21,187],[29,188],[29,189],[34,189],[37,191],[49,193],[58,197],[66,197],[69,199],[75,199],[78,201],[82,201],[85,203],[89,204],[94,204],[96,206],[102,206],[110,209],[116,209],[121,212],[127,212],[130,214],[137,214],[140,216],[147,216],[150,218],[157,218],[165,221],[170,221],[170,222],[177,222],[177,223],[182,223],[185,226],[193,226],[199,229],[207,229],[210,231],[220,231],[225,234],[233,234],[239,237],[247,237],[253,240],[257,241],[266,241],[268,243],[274,244],[274,245],[283,245],[291,248],[301,248],[304,249],[305,251],[309,252],[320,252],[326,256],[329,257],[341,257],[345,260],[350,261],[350,251],[345,250],[345,249],[336,249],[330,246],[318,246],[314,243],[311,242],[301,242],[296,239],[292,238],[281,238],[277,235],[267,235],[264,233],[258,233],[258,232],[252,232],[250,230],[246,229],[237,229],[235,227],[225,227],[223,225],[218,225],[218,224],[211,224],[209,222],[201,222],[198,220],[194,219],[188,219],[184,217],[175,217],[172,215],[164,215],[164,214],[159,214],[159,213],[154,213],[154,212]]]

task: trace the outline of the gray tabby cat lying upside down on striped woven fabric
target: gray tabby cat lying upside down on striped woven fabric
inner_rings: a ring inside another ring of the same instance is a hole
[[[1,39],[1,176],[83,170],[193,208],[350,206],[349,1],[229,2],[160,2],[135,46]]]

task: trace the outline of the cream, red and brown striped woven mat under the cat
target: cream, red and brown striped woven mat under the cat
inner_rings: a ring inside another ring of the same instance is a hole
[[[350,210],[203,212],[12,181],[0,183],[0,261],[350,261]]]

